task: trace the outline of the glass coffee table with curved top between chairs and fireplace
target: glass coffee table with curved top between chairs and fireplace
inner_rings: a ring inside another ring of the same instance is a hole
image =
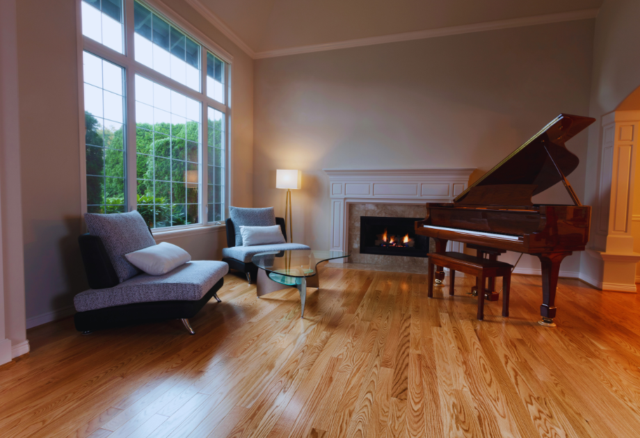
[[[289,250],[260,252],[251,261],[259,268],[256,279],[258,296],[285,289],[282,286],[296,287],[300,293],[302,310],[305,316],[307,286],[320,287],[318,264],[333,259],[344,259],[349,254],[342,251]]]

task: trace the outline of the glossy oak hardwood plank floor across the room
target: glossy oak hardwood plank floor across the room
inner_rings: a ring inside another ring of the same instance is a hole
[[[29,330],[0,368],[2,437],[638,437],[640,298],[573,279],[537,324],[540,277],[514,275],[509,318],[474,279],[328,268],[301,320],[227,275],[182,323],[83,336]],[[498,287],[500,286],[498,282]]]

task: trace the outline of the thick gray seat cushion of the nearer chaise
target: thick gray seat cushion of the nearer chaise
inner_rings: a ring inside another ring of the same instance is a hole
[[[88,311],[134,302],[200,300],[227,272],[223,261],[189,261],[165,275],[141,274],[109,289],[89,289],[73,303],[77,311]]]

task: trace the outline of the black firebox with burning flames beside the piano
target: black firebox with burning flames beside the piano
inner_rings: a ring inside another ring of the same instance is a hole
[[[415,234],[415,221],[424,218],[360,216],[360,254],[426,257],[429,238]]]

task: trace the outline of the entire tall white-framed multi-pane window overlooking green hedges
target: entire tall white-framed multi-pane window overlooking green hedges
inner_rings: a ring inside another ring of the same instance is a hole
[[[152,4],[79,1],[86,211],[136,209],[152,228],[223,222],[229,56]]]

